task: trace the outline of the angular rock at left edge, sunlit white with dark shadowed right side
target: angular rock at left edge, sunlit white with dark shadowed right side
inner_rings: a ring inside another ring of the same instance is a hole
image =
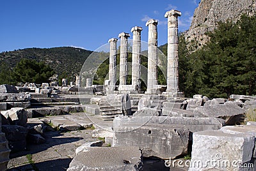
[[[28,121],[28,112],[24,108],[11,108],[10,110],[2,111],[1,114],[8,119],[10,124],[25,126]]]

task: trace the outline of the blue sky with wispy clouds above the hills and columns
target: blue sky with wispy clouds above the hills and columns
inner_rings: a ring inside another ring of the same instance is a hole
[[[119,33],[141,26],[147,41],[148,19],[159,20],[158,45],[167,42],[164,13],[182,12],[179,31],[189,29],[200,0],[1,0],[0,52],[19,48],[83,47],[108,43]]]

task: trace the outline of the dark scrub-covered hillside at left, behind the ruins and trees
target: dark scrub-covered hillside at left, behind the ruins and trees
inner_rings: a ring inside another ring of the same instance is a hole
[[[1,64],[6,63],[13,68],[22,58],[35,59],[49,64],[58,75],[66,71],[72,77],[79,74],[90,54],[92,54],[90,50],[73,47],[25,48],[0,53],[0,61]]]

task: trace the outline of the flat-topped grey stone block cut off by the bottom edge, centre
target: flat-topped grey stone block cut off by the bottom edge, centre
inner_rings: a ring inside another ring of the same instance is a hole
[[[67,171],[78,170],[142,170],[141,151],[138,147],[90,147],[76,155]]]

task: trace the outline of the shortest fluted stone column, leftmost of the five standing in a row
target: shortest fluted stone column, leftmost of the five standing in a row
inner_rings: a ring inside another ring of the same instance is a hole
[[[116,38],[111,38],[108,41],[110,43],[109,51],[109,73],[108,79],[110,80],[110,85],[112,89],[115,90],[116,85]]]

